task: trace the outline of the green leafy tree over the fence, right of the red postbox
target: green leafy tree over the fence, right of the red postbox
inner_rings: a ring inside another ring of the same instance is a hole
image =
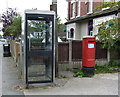
[[[110,61],[110,50],[120,50],[120,18],[103,22],[99,26],[99,32],[96,35],[98,40],[103,43],[103,48],[108,49],[108,62]]]

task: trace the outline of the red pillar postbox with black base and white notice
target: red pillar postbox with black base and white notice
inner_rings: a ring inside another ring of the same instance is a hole
[[[82,70],[94,74],[96,39],[92,36],[83,37]]]

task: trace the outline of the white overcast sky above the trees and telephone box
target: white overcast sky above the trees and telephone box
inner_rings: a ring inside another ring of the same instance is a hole
[[[52,0],[1,0],[0,14],[9,8],[17,8],[18,12],[23,12],[25,9],[37,8],[38,10],[49,10]],[[62,22],[66,22],[67,18],[67,2],[66,0],[57,0],[58,15]]]

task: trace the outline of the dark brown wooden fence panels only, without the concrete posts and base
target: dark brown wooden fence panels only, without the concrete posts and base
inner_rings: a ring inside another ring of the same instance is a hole
[[[72,61],[82,60],[82,41],[71,41],[72,49],[69,50],[69,42],[58,44],[58,61],[69,61],[69,53],[72,54]],[[102,48],[102,43],[96,43],[96,59],[107,59],[107,50]]]

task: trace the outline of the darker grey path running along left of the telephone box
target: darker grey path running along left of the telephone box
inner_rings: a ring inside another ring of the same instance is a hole
[[[2,95],[23,95],[22,91],[16,90],[16,87],[21,84],[18,79],[17,68],[11,57],[3,57],[3,46],[0,44],[0,70]],[[1,89],[0,89],[1,90]]]

